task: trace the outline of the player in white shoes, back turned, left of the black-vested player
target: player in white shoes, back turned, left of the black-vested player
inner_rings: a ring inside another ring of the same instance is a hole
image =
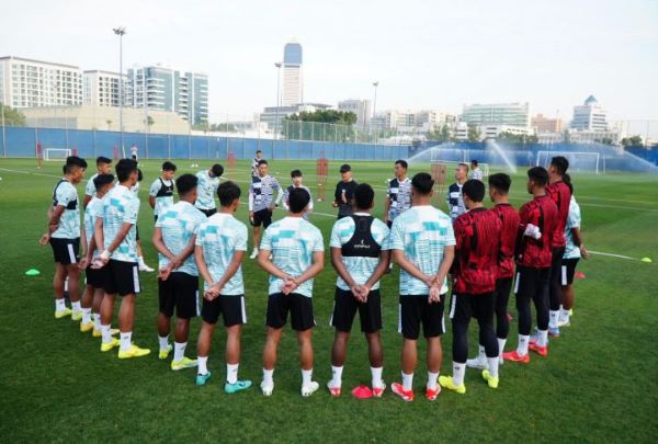
[[[310,196],[295,189],[288,196],[291,209],[286,217],[272,224],[263,236],[258,263],[270,274],[266,325],[268,339],[263,350],[264,396],[274,390],[274,365],[283,327],[291,314],[291,325],[297,332],[302,364],[302,396],[313,395],[319,387],[313,378],[313,281],[325,266],[322,234],[302,215]],[[272,255],[272,259],[270,259]]]

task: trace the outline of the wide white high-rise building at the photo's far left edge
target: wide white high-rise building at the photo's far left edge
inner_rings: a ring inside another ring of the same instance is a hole
[[[82,103],[82,71],[72,65],[0,57],[0,102],[12,107]]]

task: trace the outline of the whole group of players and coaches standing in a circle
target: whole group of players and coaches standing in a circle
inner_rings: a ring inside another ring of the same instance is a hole
[[[313,210],[310,190],[299,170],[291,173],[285,190],[268,174],[268,161],[258,153],[249,185],[249,221],[253,249],[250,259],[269,274],[266,338],[263,349],[265,396],[274,389],[274,367],[283,328],[297,333],[302,366],[302,396],[318,388],[313,380],[314,278],[325,267],[325,242],[320,230],[308,220]],[[398,331],[402,334],[401,383],[392,391],[406,401],[415,398],[413,373],[422,327],[427,341],[428,378],[426,397],[435,400],[441,387],[466,392],[467,366],[481,371],[491,388],[499,385],[503,361],[527,364],[529,351],[548,354],[548,335],[558,337],[569,325],[574,301],[571,288],[578,258],[587,258],[580,238],[580,209],[572,197],[566,171],[568,161],[555,157],[548,170],[527,171],[526,189],[533,200],[517,212],[509,203],[511,179],[504,173],[488,178],[488,194],[495,206],[484,207],[485,184],[475,162],[460,164],[456,183],[449,187],[449,214],[432,205],[434,181],[426,172],[409,178],[407,162],[395,162],[388,181],[384,220],[372,215],[375,192],[352,179],[349,164],[340,168],[332,206],[338,208],[329,247],[338,274],[330,325],[336,329],[331,349],[332,377],[327,388],[341,395],[348,342],[356,312],[368,345],[371,387],[368,396],[382,397],[383,380],[382,297],[379,282],[393,263],[400,269]],[[82,332],[101,338],[101,351],[118,348],[120,358],[145,356],[150,350],[133,342],[135,299],[140,293],[139,271],[148,271],[140,254],[137,196],[140,171],[135,159],[122,159],[111,174],[111,160],[97,159],[98,173],[88,183],[83,227],[76,185],[83,179],[87,162],[69,157],[64,178],[53,191],[48,231],[42,244],[50,243],[56,262],[54,277],[55,317],[80,320]],[[238,378],[241,330],[247,322],[241,262],[248,251],[247,226],[235,217],[241,190],[216,163],[196,174],[174,180],[175,166],[162,164],[161,177],[149,190],[154,208],[152,242],[159,253],[157,330],[159,358],[173,351],[171,369],[196,367],[196,384],[211,378],[207,360],[215,326],[226,328],[226,383],[228,394],[247,389],[251,382]],[[179,201],[174,203],[174,189]],[[276,192],[276,197],[274,193]],[[215,195],[219,201],[216,206]],[[272,221],[274,208],[287,212]],[[261,231],[261,227],[264,231]],[[82,244],[82,254],[79,246]],[[86,287],[79,297],[79,271]],[[198,307],[198,278],[203,280],[203,304]],[[65,281],[71,309],[64,299]],[[449,296],[449,284],[452,295]],[[515,294],[519,341],[515,351],[503,352],[509,335],[508,299]],[[113,330],[114,305],[121,298],[118,330]],[[536,309],[536,333],[531,337],[531,301]],[[441,335],[445,332],[444,307],[452,320],[453,374],[440,376]],[[175,311],[173,346],[171,318]],[[201,315],[197,357],[185,356],[190,319]],[[479,326],[479,353],[467,360],[468,323]],[[120,338],[115,338],[118,333]]]

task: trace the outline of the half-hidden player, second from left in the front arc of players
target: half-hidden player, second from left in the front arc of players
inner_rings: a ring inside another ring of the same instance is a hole
[[[84,246],[84,260],[81,266],[84,269],[86,287],[82,294],[82,322],[80,331],[93,330],[94,338],[101,337],[101,301],[103,300],[103,285],[105,283],[106,267],[95,270],[91,266],[93,260],[100,254],[93,236],[99,212],[102,208],[102,198],[114,186],[113,174],[97,174],[93,180],[95,191],[91,201],[84,208],[84,229],[81,231],[82,244]],[[89,187],[88,187],[89,191]],[[92,320],[93,317],[93,320]],[[118,332],[118,330],[116,330]]]

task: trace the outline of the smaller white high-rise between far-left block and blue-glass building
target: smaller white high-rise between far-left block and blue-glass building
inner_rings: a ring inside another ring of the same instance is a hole
[[[123,94],[121,98],[118,94],[118,72],[99,70],[84,71],[82,73],[82,98],[86,105],[118,106],[120,100],[123,99],[124,106],[133,106],[128,76],[123,75],[123,81],[121,82]]]

